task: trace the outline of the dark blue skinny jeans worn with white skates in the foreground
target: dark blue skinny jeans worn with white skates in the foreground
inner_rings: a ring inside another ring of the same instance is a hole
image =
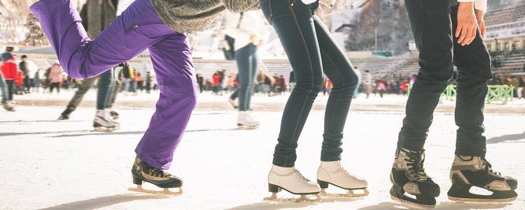
[[[261,7],[279,35],[296,78],[283,111],[273,164],[295,165],[297,140],[321,91],[323,70],[332,80],[333,89],[326,104],[321,161],[341,160],[344,124],[358,83],[353,66],[330,31],[314,15],[317,2],[305,5],[300,0],[261,0]]]

